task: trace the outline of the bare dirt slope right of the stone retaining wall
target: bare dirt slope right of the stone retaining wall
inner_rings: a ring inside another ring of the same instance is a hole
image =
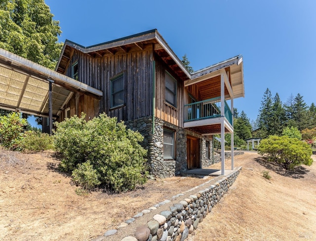
[[[316,155],[312,157],[314,164],[295,174],[267,165],[257,154],[235,158],[243,166],[237,181],[188,240],[316,241]],[[262,177],[264,170],[270,180]]]

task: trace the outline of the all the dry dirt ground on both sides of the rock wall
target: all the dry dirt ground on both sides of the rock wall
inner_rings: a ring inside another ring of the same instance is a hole
[[[50,152],[0,150],[0,240],[91,240],[211,178],[173,177],[149,181],[130,193],[80,194],[57,165]],[[235,157],[235,166],[240,165],[229,194],[189,241],[316,240],[316,162],[288,174],[267,166],[257,154],[245,153]],[[270,180],[262,177],[264,170],[270,170]]]

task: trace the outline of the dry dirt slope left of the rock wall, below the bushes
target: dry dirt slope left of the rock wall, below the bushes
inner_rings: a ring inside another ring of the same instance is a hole
[[[72,185],[70,176],[58,172],[59,161],[53,154],[0,149],[1,241],[91,240],[138,212],[206,181],[173,177],[149,181],[129,193],[77,195],[78,187]]]

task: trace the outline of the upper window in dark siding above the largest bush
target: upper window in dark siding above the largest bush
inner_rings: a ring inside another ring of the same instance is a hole
[[[111,108],[124,104],[124,74],[111,80]]]

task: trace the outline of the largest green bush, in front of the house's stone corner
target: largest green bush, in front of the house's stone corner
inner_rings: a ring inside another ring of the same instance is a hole
[[[146,150],[139,132],[105,114],[91,121],[74,116],[56,123],[54,145],[63,154],[61,168],[92,189],[104,186],[116,192],[132,190],[146,182]]]

